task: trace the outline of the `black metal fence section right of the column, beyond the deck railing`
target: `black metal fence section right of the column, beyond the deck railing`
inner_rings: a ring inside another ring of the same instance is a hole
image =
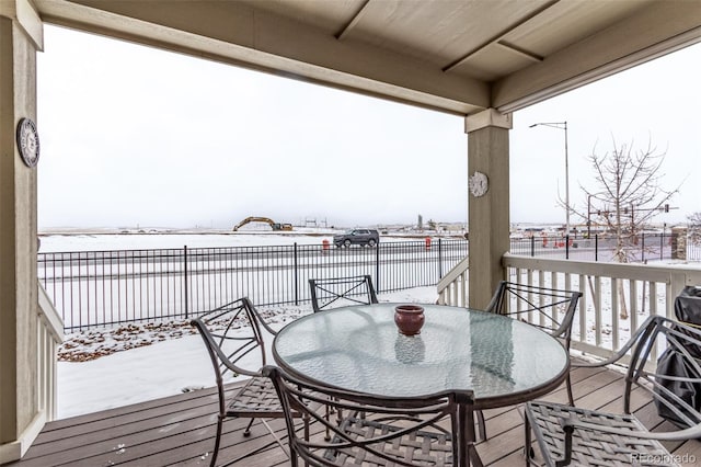
[[[671,236],[640,235],[625,246],[631,262],[668,260],[673,258]],[[563,258],[579,261],[614,261],[616,239],[610,236],[593,238],[530,237],[512,239],[510,252],[528,257]]]

